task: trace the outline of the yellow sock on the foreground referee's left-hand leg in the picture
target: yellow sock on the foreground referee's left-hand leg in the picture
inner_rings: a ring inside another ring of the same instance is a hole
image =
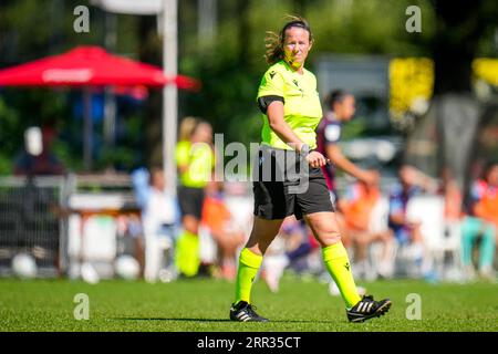
[[[236,280],[236,301],[246,301],[250,303],[252,282],[261,267],[262,256],[252,253],[247,248],[242,249],[239,257],[239,269],[237,270]]]

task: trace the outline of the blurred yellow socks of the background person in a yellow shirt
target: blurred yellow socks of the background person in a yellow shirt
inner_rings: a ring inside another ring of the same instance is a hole
[[[175,246],[175,264],[180,273],[187,277],[197,274],[200,266],[199,238],[185,230]]]

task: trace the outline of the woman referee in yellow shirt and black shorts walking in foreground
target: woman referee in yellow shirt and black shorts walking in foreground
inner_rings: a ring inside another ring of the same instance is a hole
[[[279,34],[269,32],[267,42],[266,59],[271,66],[258,91],[263,127],[259,166],[255,165],[259,171],[253,180],[255,221],[249,240],[240,252],[230,320],[269,321],[256,313],[250,303],[250,292],[267,248],[283,219],[290,215],[304,218],[319,241],[325,267],[345,302],[349,321],[363,322],[380,316],[388,311],[391,301],[375,301],[372,296],[357,294],[321,170],[326,159],[314,150],[315,127],[322,117],[322,108],[317,79],[304,69],[313,44],[311,29],[304,19],[292,18]],[[287,164],[292,158],[294,164],[303,164],[294,166],[294,170],[300,171],[299,184],[305,181],[305,190],[295,191],[295,179],[291,180],[286,173],[289,166],[282,168],[282,160]]]

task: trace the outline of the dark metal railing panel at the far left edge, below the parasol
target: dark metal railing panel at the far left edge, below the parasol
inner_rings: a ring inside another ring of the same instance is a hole
[[[19,253],[35,259],[39,277],[60,273],[66,230],[60,210],[66,195],[63,177],[0,177],[0,275],[12,273]]]

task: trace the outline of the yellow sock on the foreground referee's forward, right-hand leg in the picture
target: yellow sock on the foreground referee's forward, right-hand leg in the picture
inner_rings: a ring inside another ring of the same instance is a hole
[[[326,270],[332,275],[335,284],[338,284],[346,306],[349,309],[353,308],[361,298],[356,291],[356,284],[351,272],[350,259],[347,258],[344,246],[342,242],[338,242],[324,247],[322,248],[322,256]]]

